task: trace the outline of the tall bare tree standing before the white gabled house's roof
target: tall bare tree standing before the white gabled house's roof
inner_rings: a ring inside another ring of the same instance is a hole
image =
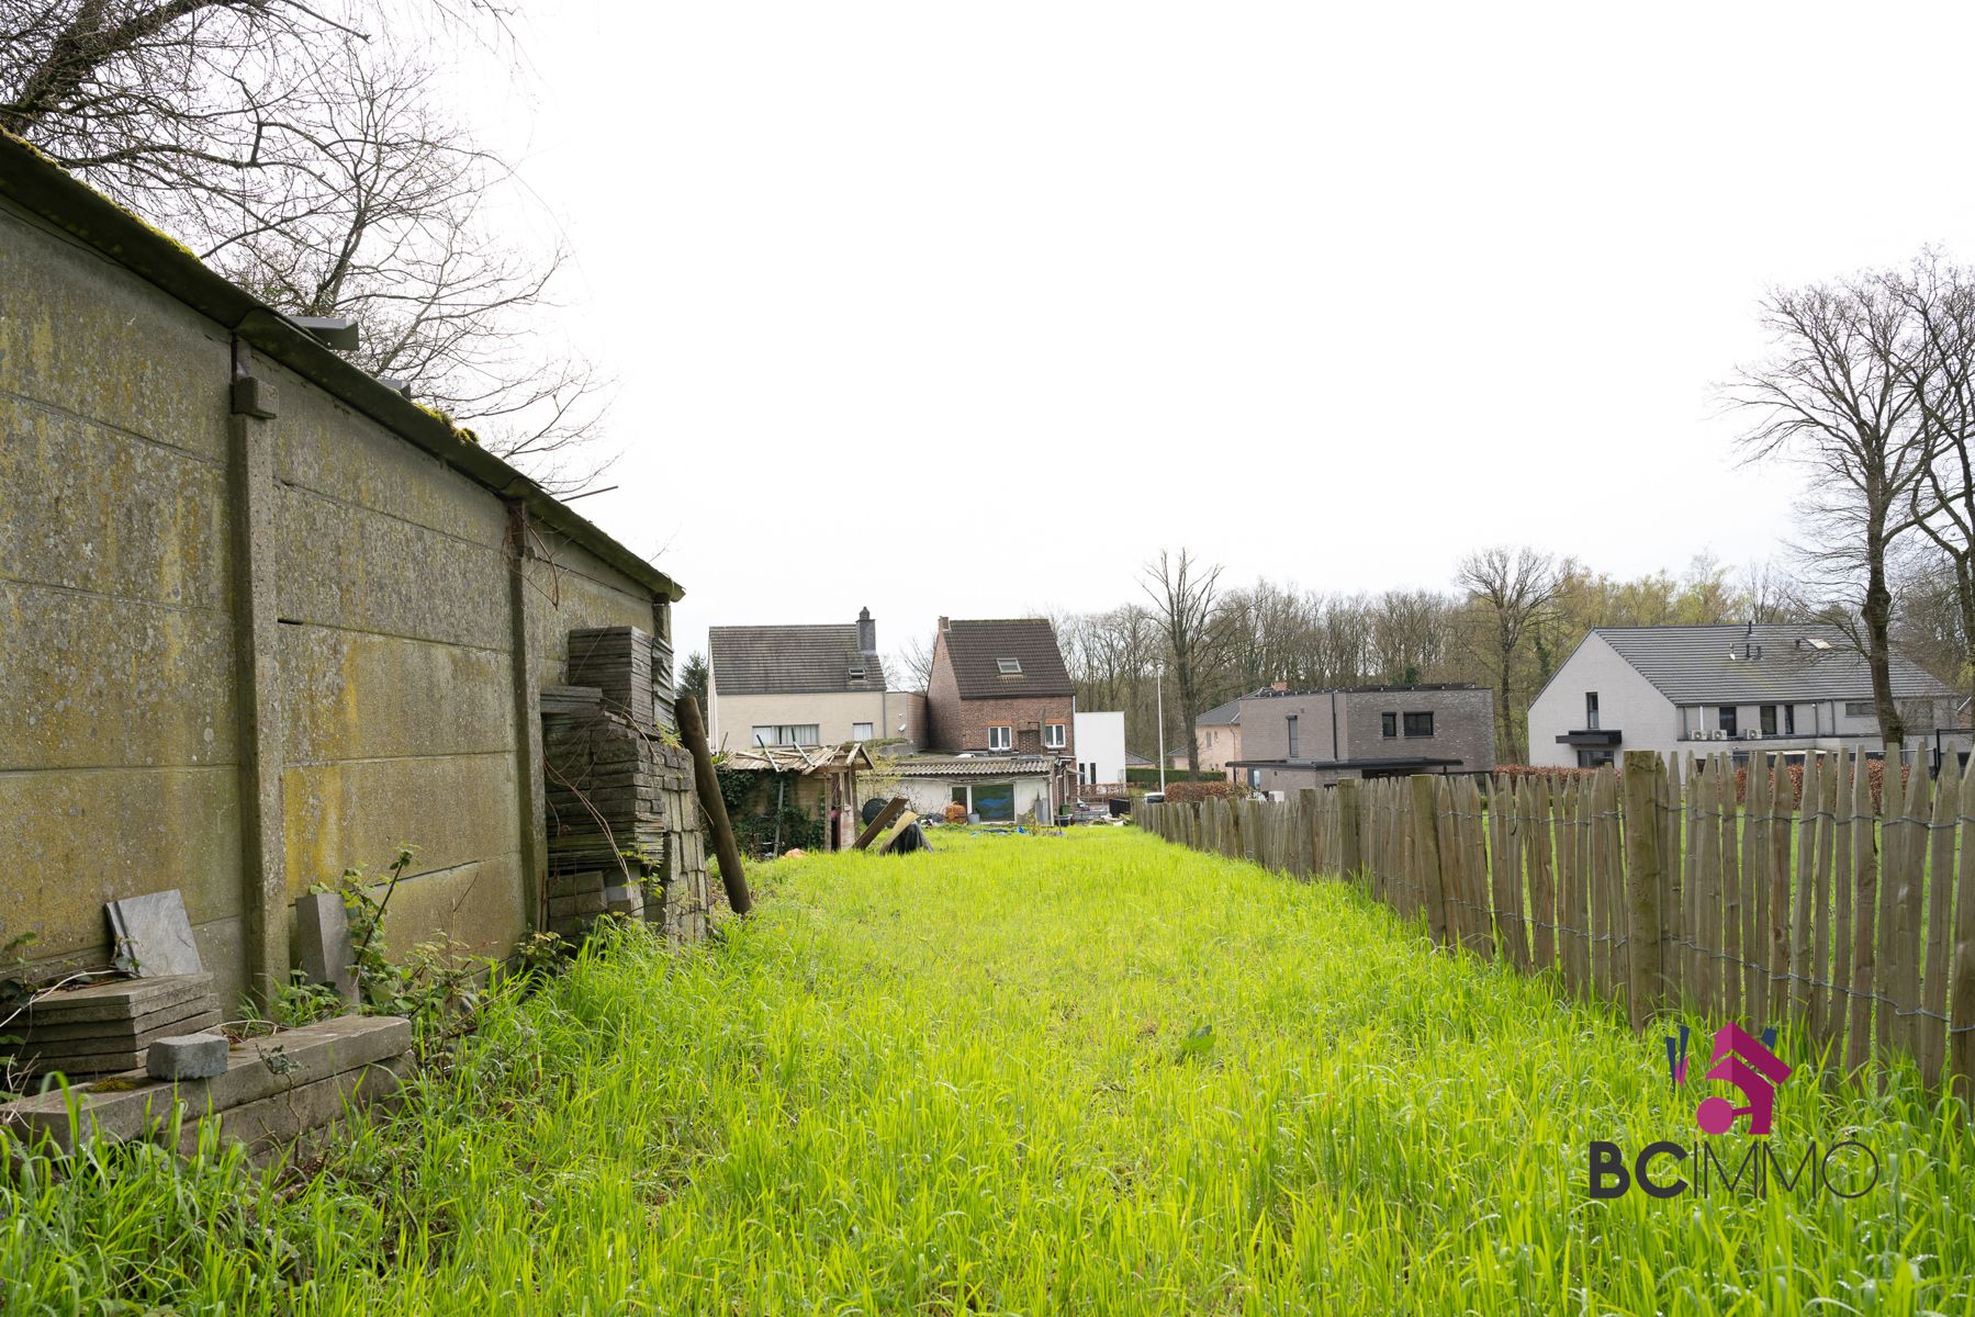
[[[1801,549],[1809,584],[1858,616],[1886,754],[1906,740],[1892,695],[1892,561],[1922,517],[1932,468],[1916,371],[1924,344],[1884,276],[1772,290],[1762,300],[1770,359],[1744,369],[1728,401],[1752,417],[1744,458],[1783,456],[1811,474]]]

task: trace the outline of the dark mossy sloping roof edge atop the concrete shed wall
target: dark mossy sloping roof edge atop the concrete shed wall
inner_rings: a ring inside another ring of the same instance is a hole
[[[519,502],[537,523],[583,545],[652,594],[673,602],[685,596],[672,577],[594,521],[480,444],[460,438],[452,423],[336,355],[273,306],[213,272],[192,251],[10,132],[0,132],[0,195],[237,334],[405,442],[431,452],[500,498]]]

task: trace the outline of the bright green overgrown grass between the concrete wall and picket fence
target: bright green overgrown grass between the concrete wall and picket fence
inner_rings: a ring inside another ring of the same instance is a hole
[[[0,1309],[1975,1307],[1969,1135],[1910,1076],[1831,1092],[1783,1039],[1774,1141],[1868,1143],[1858,1201],[1592,1201],[1590,1139],[1697,1143],[1657,1037],[1343,885],[936,841],[774,865],[723,946],[583,960],[306,1183],[134,1149],[6,1191]]]

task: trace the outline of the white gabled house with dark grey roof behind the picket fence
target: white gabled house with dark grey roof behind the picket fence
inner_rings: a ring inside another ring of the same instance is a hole
[[[1967,748],[1961,699],[1898,654],[1892,693],[1928,750]],[[1872,675],[1841,634],[1805,624],[1602,626],[1529,707],[1529,758],[1596,768],[1623,750],[1880,754]]]

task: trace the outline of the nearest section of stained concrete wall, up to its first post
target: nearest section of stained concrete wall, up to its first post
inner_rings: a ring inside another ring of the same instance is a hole
[[[229,336],[0,223],[0,944],[91,956],[105,900],[178,887],[237,960],[227,395],[190,387]]]

